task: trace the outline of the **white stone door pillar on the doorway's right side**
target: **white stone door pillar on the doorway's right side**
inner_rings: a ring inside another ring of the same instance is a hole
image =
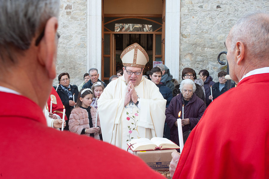
[[[180,1],[166,0],[165,7],[165,65],[179,79]]]

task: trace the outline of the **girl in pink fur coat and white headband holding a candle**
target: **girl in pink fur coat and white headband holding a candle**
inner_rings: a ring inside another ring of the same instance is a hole
[[[69,131],[77,134],[85,134],[100,140],[100,120],[96,117],[97,109],[90,107],[93,94],[91,89],[82,89],[79,92],[77,105],[72,110],[69,119]],[[97,127],[94,127],[97,119]]]

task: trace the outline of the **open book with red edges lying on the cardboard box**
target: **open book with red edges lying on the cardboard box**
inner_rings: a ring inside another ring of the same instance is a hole
[[[156,149],[179,149],[179,146],[171,140],[162,137],[133,139],[127,143],[132,151],[156,150]]]

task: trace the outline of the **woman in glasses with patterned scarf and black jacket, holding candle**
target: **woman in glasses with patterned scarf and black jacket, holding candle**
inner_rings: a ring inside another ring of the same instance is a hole
[[[68,130],[69,116],[74,105],[77,104],[79,91],[76,85],[70,85],[70,76],[68,73],[59,74],[58,80],[60,85],[57,89],[57,93],[62,100],[62,104],[65,106],[65,114],[67,117],[65,130]]]

